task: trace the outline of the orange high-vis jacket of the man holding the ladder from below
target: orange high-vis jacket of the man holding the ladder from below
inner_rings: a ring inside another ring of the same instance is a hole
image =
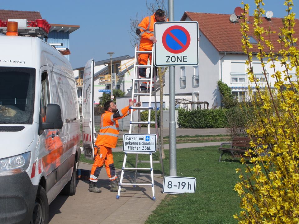
[[[105,111],[101,117],[101,128],[95,144],[98,146],[104,145],[109,148],[115,148],[119,134],[118,120],[126,117],[130,113],[131,110],[129,110],[129,106],[116,113]]]

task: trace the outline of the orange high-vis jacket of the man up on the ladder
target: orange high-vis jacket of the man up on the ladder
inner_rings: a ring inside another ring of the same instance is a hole
[[[168,21],[168,19],[166,20]],[[153,42],[150,40],[154,36],[154,23],[157,22],[155,15],[145,17],[137,27],[136,33],[141,36],[140,47],[152,50]]]

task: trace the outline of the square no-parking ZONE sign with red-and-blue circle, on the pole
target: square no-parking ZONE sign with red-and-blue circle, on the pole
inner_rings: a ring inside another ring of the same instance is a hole
[[[198,65],[198,23],[156,22],[154,24],[156,66]]]

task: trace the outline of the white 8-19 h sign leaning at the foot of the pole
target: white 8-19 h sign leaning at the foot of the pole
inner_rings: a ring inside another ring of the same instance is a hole
[[[163,193],[183,194],[195,193],[195,177],[164,176]]]

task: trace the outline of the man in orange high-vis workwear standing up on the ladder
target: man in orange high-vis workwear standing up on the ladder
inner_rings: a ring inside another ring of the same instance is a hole
[[[168,20],[167,20],[168,21]],[[157,39],[154,37],[154,23],[155,22],[165,22],[165,13],[162,9],[158,9],[154,15],[145,17],[136,29],[136,34],[141,36],[139,50],[140,51],[151,51],[153,48],[153,43],[157,43]],[[139,64],[146,65],[148,59],[150,58],[150,63],[152,61],[152,54],[139,54],[138,62]],[[157,73],[157,68],[155,67],[155,73]],[[146,68],[139,68],[140,78],[146,78]],[[150,92],[150,86],[147,82],[141,82],[140,92],[146,93],[146,88]],[[152,91],[154,91],[154,84],[152,85]]]

